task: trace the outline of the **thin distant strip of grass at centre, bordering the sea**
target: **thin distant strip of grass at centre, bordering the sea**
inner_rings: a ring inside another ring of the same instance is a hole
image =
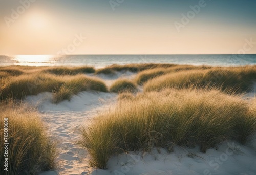
[[[126,64],[126,65],[118,65],[113,64],[104,68],[97,69],[95,71],[96,74],[114,74],[116,71],[130,71],[130,72],[140,72],[147,69],[153,68],[168,68],[174,66],[173,64]]]

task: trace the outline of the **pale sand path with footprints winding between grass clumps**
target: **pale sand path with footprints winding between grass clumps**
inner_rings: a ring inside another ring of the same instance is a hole
[[[87,164],[87,152],[74,144],[77,139],[74,131],[81,124],[90,122],[92,116],[104,106],[114,103],[115,97],[116,94],[110,93],[81,92],[74,95],[70,101],[65,100],[59,104],[50,102],[51,93],[27,97],[26,101],[38,106],[51,132],[60,139],[61,154],[58,160],[61,168],[59,174],[87,174],[92,171]],[[48,172],[47,174],[54,173]]]

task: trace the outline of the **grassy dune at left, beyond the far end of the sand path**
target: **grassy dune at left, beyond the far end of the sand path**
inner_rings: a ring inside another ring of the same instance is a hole
[[[53,102],[58,103],[83,90],[107,92],[102,80],[83,75],[94,72],[89,66],[0,67],[0,100],[53,92]]]

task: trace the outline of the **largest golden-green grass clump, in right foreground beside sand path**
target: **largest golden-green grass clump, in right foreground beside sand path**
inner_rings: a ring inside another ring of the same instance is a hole
[[[249,141],[256,131],[252,114],[255,104],[219,90],[146,92],[120,99],[81,127],[78,144],[88,150],[91,165],[101,169],[107,168],[111,156],[127,151],[199,145],[205,152],[224,140]]]

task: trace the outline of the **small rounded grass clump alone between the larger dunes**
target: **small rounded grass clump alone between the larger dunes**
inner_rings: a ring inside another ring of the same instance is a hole
[[[136,91],[136,84],[128,79],[117,79],[110,87],[110,92],[134,92]]]

